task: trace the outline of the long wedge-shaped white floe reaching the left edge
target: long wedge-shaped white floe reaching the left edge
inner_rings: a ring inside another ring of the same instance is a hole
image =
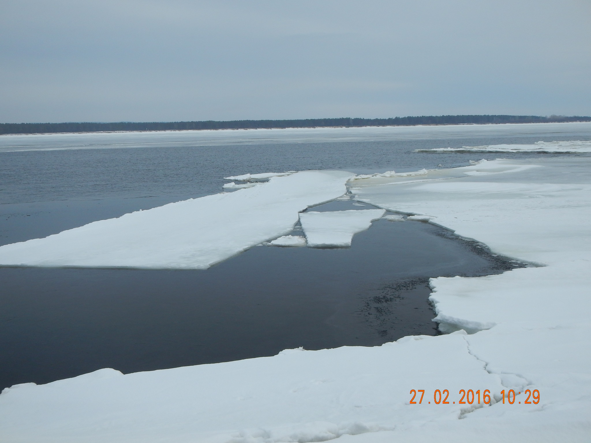
[[[298,213],[345,193],[343,171],[303,171],[233,193],[100,220],[0,247],[0,265],[206,269],[290,232]]]

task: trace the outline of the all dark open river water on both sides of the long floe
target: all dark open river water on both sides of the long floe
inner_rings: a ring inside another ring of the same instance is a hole
[[[591,139],[471,132],[457,139],[191,146],[175,145],[174,134],[165,147],[0,152],[0,245],[217,193],[228,175],[455,167],[499,154],[413,150]],[[335,209],[364,208],[320,207]],[[0,268],[0,388],[103,367],[129,373],[433,335],[428,278],[514,266],[440,227],[379,220],[350,248],[260,246],[207,271]]]

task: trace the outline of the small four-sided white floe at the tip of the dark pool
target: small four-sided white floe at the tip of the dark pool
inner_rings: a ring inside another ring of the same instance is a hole
[[[383,209],[362,209],[359,211],[309,211],[300,214],[301,227],[311,247],[351,246],[353,235],[381,219]]]

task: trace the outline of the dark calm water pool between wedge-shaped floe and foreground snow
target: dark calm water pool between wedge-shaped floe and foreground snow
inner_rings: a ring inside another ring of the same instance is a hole
[[[442,231],[379,220],[350,248],[259,246],[207,271],[0,268],[0,387],[435,335],[429,277],[511,268]]]

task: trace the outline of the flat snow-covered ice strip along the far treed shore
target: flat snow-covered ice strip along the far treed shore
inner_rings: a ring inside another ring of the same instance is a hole
[[[363,126],[360,128],[206,129],[203,131],[7,134],[0,152],[364,142],[589,133],[589,122],[501,125]]]

